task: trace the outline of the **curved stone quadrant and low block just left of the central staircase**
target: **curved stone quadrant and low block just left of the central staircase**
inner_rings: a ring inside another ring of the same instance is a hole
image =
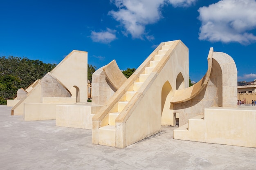
[[[92,129],[92,117],[126,80],[115,60],[99,68],[92,75],[92,103],[57,105],[56,126]]]

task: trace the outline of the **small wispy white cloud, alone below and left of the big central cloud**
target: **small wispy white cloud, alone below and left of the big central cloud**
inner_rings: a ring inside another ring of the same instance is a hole
[[[116,33],[116,30],[111,30],[107,28],[106,31],[100,31],[100,32],[92,31],[90,37],[94,42],[101,42],[101,43],[108,44],[113,40],[117,39],[115,33]]]

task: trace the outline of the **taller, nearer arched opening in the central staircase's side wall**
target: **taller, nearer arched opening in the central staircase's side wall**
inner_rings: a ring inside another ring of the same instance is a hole
[[[171,97],[173,97],[173,89],[171,87],[171,84],[167,81],[162,87],[162,94],[161,94],[161,106],[162,106],[161,125],[162,126],[176,125],[176,119],[173,113],[173,104],[170,103]]]

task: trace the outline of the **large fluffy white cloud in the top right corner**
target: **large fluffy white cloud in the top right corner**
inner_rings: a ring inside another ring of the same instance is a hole
[[[256,36],[249,32],[256,29],[255,0],[220,0],[198,12],[202,22],[200,40],[240,44],[256,41]]]

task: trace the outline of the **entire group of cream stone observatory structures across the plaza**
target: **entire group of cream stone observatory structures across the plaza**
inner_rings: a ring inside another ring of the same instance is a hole
[[[255,148],[256,110],[237,106],[234,60],[211,48],[207,61],[207,73],[189,87],[188,48],[162,42],[128,79],[115,60],[99,68],[87,103],[87,52],[72,51],[7,104],[26,121],[92,129],[93,144],[124,148],[178,125],[174,139]]]

